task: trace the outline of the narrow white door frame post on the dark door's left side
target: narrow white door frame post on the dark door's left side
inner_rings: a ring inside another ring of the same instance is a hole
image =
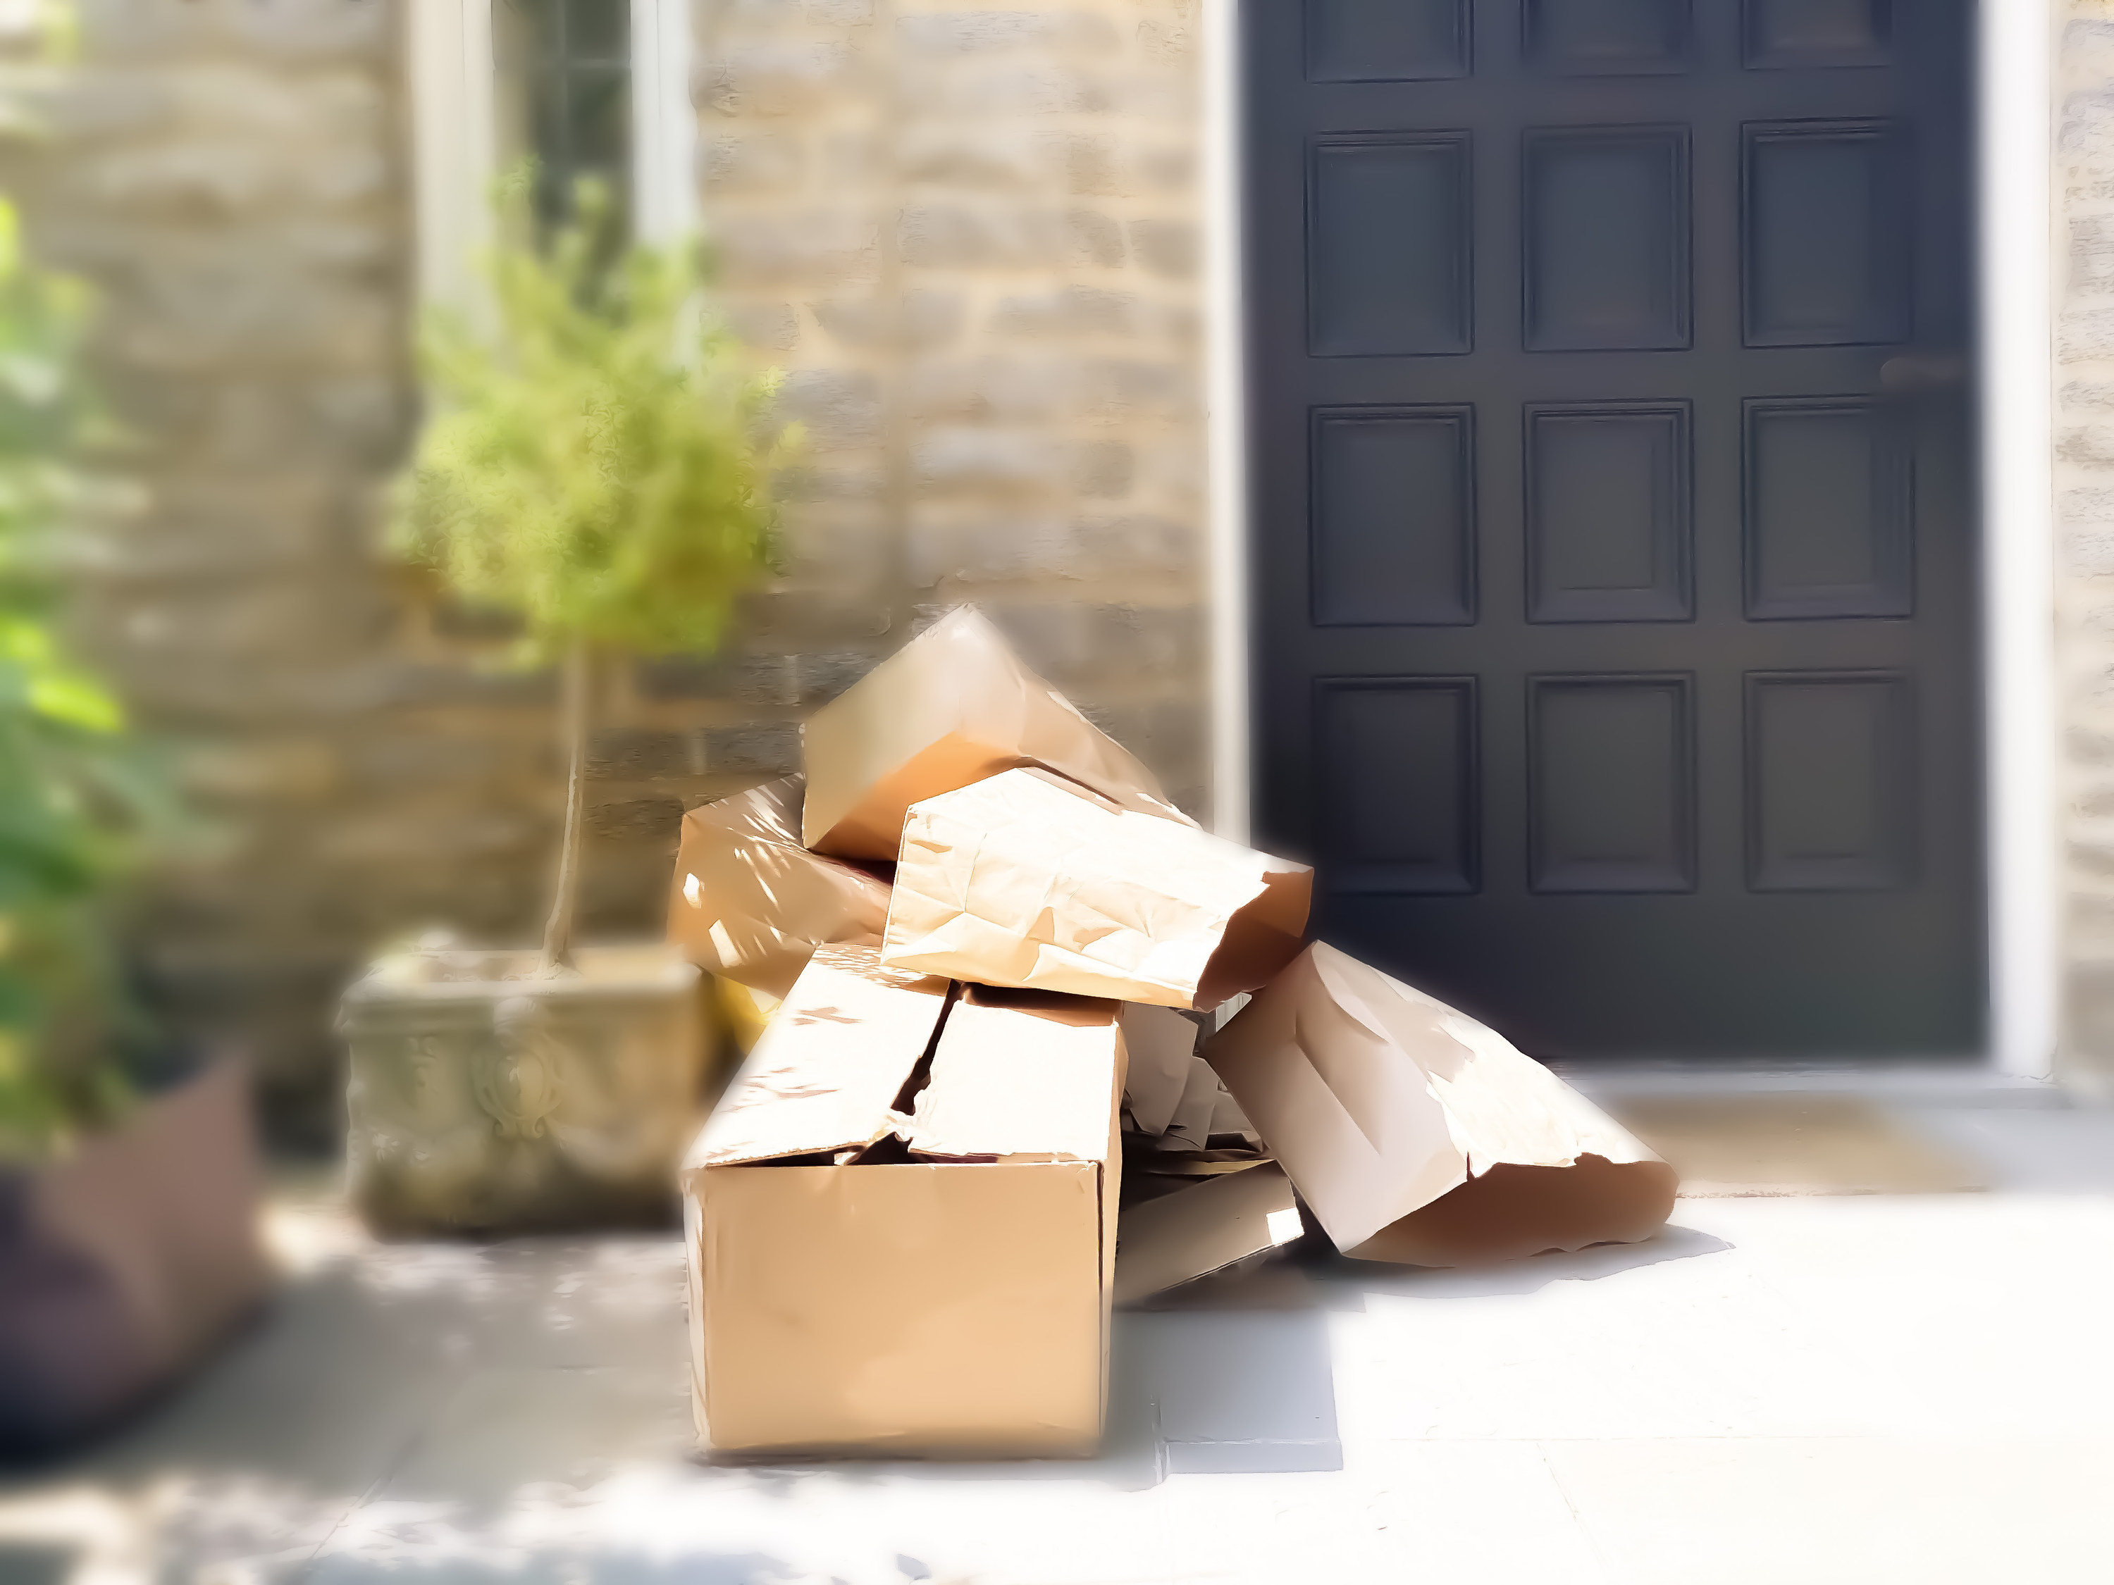
[[[1241,281],[1241,0],[1203,8],[1205,408],[1211,514],[1211,828],[1251,816],[1247,632],[1247,313]]]

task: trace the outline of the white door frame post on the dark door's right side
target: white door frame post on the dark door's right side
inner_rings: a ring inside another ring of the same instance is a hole
[[[2055,17],[1979,19],[1983,645],[1991,1065],[2048,1078],[2059,1027]]]

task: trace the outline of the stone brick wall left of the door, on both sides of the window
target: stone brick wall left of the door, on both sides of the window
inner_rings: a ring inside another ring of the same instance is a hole
[[[700,11],[727,304],[810,454],[742,642],[611,678],[590,930],[657,930],[681,809],[793,767],[801,712],[962,598],[1201,805],[1190,4]],[[376,943],[533,938],[552,687],[376,543],[416,421],[397,6],[80,11],[51,135],[0,182],[104,294],[148,497],[82,638],[220,828],[144,900],[142,964],[323,1143],[330,1008]]]

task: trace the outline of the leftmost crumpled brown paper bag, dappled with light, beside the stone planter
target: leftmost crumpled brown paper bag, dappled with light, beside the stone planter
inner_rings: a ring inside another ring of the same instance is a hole
[[[803,778],[683,816],[668,940],[698,968],[784,995],[824,943],[877,943],[888,881],[799,841]]]

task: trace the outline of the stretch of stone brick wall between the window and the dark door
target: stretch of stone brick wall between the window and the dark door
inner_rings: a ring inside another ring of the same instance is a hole
[[[977,600],[1203,805],[1194,6],[700,8],[723,298],[810,437],[780,708]]]

